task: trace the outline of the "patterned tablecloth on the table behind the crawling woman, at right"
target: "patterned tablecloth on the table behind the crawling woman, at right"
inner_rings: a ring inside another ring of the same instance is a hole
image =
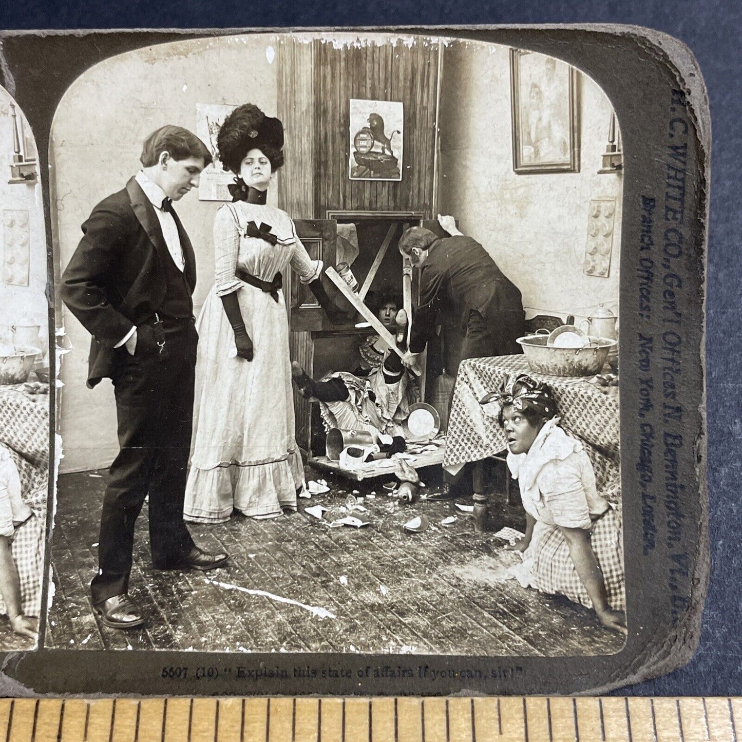
[[[487,459],[505,450],[505,431],[499,426],[496,405],[479,400],[499,390],[506,375],[527,373],[545,381],[554,392],[562,427],[585,444],[595,470],[598,491],[609,501],[620,501],[619,407],[617,388],[603,393],[585,379],[549,376],[531,371],[524,355],[470,358],[456,376],[443,466],[456,473],[467,462]]]

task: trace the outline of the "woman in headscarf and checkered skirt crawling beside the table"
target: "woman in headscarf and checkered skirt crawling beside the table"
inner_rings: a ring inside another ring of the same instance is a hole
[[[594,608],[603,626],[626,634],[620,523],[597,493],[582,444],[559,427],[551,390],[522,374],[490,399],[499,402],[508,467],[525,508],[525,538],[507,547],[522,553],[513,576]]]

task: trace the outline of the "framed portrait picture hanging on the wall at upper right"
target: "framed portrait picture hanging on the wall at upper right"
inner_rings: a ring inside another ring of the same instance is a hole
[[[580,171],[577,70],[553,56],[510,49],[516,173]]]

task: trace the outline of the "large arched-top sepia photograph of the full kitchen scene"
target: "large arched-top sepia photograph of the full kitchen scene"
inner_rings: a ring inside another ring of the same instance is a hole
[[[50,133],[45,646],[621,651],[616,131],[567,62],[462,39],[85,70]]]

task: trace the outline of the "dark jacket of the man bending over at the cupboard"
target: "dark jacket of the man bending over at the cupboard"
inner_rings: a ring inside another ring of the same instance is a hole
[[[439,315],[463,335],[472,310],[493,326],[503,321],[504,312],[522,315],[521,293],[476,240],[465,235],[436,240],[420,272],[410,349],[425,347]]]

